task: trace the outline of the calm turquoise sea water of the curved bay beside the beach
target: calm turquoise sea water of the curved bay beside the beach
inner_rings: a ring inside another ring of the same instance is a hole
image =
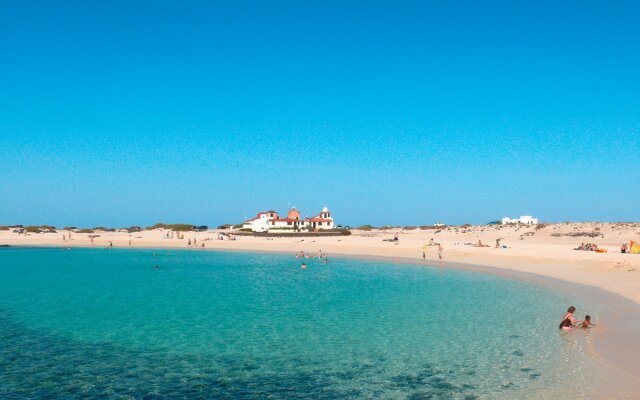
[[[0,398],[479,399],[581,382],[580,345],[557,329],[576,301],[564,294],[413,265],[308,265],[0,249]]]

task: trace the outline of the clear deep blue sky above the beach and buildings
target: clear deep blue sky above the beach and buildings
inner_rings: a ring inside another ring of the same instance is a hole
[[[638,21],[633,1],[0,0],[0,224],[637,221]]]

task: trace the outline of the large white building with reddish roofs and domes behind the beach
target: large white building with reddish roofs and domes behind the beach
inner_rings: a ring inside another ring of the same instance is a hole
[[[255,218],[245,221],[242,225],[243,229],[251,229],[252,232],[299,232],[319,231],[333,229],[335,224],[331,212],[327,207],[311,218],[300,218],[300,212],[296,208],[292,208],[287,213],[286,218],[280,218],[275,211],[259,212]]]

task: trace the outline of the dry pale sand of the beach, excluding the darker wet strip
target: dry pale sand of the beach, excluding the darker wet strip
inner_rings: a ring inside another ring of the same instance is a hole
[[[189,239],[197,240],[197,249],[251,250],[277,252],[309,252],[322,250],[329,257],[336,255],[363,257],[395,257],[433,264],[438,261],[436,246],[425,246],[433,238],[443,247],[446,262],[494,267],[517,272],[533,273],[567,282],[588,285],[640,304],[640,256],[621,254],[620,246],[629,240],[640,241],[640,224],[633,223],[561,223],[541,229],[526,226],[469,226],[443,229],[353,230],[350,236],[254,237],[237,236],[236,240],[218,240],[219,232],[185,232],[184,239],[164,238],[167,230],[136,233],[103,232],[90,242],[88,233],[71,233],[71,240],[63,241],[69,232],[31,233],[18,235],[11,230],[0,231],[0,245],[10,246],[108,246],[114,247],[172,247],[189,248]],[[385,241],[398,235],[397,243]],[[597,237],[588,237],[598,235]],[[496,239],[500,248],[495,248]],[[488,247],[474,247],[478,241]],[[573,250],[581,243],[595,243],[607,253]]]

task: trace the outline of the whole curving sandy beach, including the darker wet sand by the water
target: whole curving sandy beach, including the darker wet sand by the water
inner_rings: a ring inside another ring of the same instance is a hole
[[[184,238],[166,238],[167,230],[136,233],[95,231],[93,243],[89,233],[58,230],[56,233],[17,234],[0,231],[0,245],[9,246],[93,246],[192,248],[196,251],[299,252],[327,257],[385,258],[400,262],[424,263],[496,273],[516,279],[552,284],[565,290],[579,291],[581,296],[607,303],[610,321],[600,328],[596,347],[606,362],[640,382],[636,343],[640,337],[640,255],[621,254],[620,246],[629,240],[640,241],[640,224],[634,223],[558,223],[531,226],[465,226],[438,229],[391,228],[371,231],[353,230],[348,236],[255,237],[236,236],[219,239],[219,233],[231,230],[184,232]],[[397,242],[389,241],[394,236]],[[188,241],[196,240],[196,247]],[[443,247],[443,260],[437,246]],[[500,247],[496,248],[496,239]],[[481,241],[488,247],[476,247]],[[581,243],[595,243],[606,253],[578,251]],[[204,244],[204,247],[202,247]],[[424,259],[423,259],[423,252]],[[566,305],[559,305],[562,309]],[[560,310],[559,312],[561,312]],[[630,319],[632,321],[630,321]],[[628,347],[630,345],[631,347]]]

